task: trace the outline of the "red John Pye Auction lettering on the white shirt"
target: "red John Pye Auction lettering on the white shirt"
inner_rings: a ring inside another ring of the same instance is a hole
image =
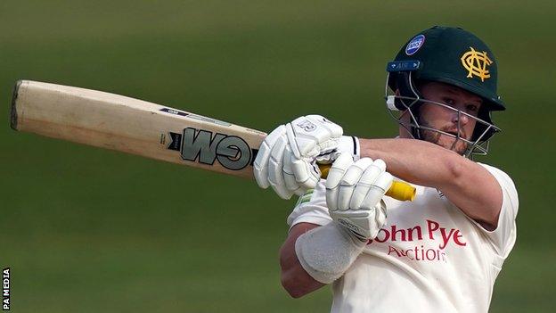
[[[376,238],[367,243],[388,243],[390,256],[407,258],[417,261],[443,261],[446,262],[446,247],[465,247],[467,242],[462,231],[457,228],[442,227],[440,223],[432,219],[425,219],[425,225],[416,225],[408,228],[397,228],[390,225],[380,229]],[[398,242],[418,243],[407,248]]]

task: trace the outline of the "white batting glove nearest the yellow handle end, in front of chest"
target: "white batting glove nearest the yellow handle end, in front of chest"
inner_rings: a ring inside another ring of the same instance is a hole
[[[331,218],[347,227],[361,241],[373,239],[386,224],[382,197],[393,177],[384,161],[362,158],[354,162],[342,153],[326,178],[326,204]]]

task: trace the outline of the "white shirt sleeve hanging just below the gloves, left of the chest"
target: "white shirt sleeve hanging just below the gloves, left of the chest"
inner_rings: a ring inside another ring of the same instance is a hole
[[[299,223],[312,223],[323,226],[331,222],[332,218],[326,207],[324,182],[325,180],[321,179],[315,189],[311,189],[299,197],[295,208],[293,208],[287,219],[290,229]]]

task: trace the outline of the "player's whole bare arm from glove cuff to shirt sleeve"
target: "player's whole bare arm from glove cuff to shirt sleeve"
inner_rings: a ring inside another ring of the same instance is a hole
[[[361,139],[361,155],[382,159],[392,175],[434,187],[487,229],[497,227],[502,189],[477,163],[445,148],[414,139]]]

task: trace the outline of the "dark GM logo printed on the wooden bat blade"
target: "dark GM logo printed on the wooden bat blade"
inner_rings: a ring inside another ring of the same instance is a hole
[[[258,152],[238,136],[213,134],[203,129],[184,128],[182,134],[170,132],[169,135],[172,142],[168,149],[181,152],[183,160],[208,165],[218,161],[226,169],[245,168],[252,164]]]

